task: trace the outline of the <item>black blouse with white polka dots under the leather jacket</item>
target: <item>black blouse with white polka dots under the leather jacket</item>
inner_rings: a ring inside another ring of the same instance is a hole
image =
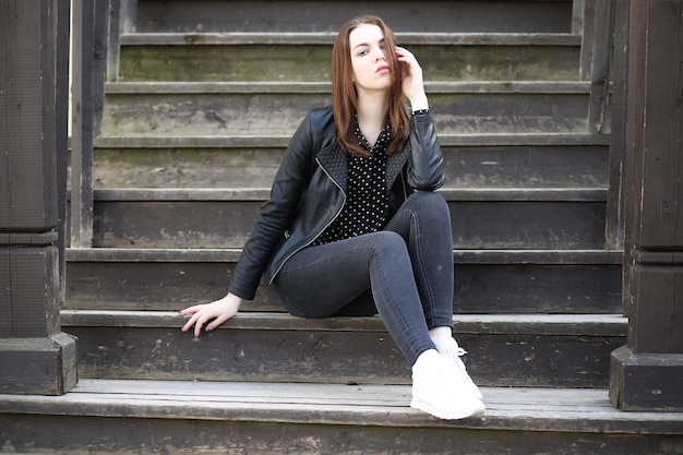
[[[371,147],[360,132],[357,118],[356,139],[372,156],[347,155],[349,166],[346,204],[339,216],[315,240],[315,244],[376,232],[387,221],[386,149],[392,139],[391,125],[387,122],[374,147]]]

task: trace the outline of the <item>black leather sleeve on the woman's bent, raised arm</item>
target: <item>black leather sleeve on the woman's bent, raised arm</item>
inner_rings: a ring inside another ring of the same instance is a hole
[[[410,119],[410,151],[408,184],[418,191],[441,188],[445,177],[443,155],[436,139],[436,129],[429,113],[418,113]]]

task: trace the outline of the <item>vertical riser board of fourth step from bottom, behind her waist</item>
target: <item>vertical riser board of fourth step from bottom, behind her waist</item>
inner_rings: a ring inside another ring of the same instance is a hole
[[[94,246],[241,248],[260,205],[257,200],[98,201]],[[502,197],[452,200],[448,205],[457,249],[604,248],[603,200]]]

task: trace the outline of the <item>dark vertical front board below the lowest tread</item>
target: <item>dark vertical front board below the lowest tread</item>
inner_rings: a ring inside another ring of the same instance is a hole
[[[308,416],[304,414],[303,416]],[[352,455],[459,453],[488,455],[491,447],[519,455],[670,455],[681,451],[680,436],[637,433],[537,432],[467,427],[403,428],[317,424],[315,421],[271,423],[196,419],[140,419],[43,415],[0,415],[11,427],[12,446],[35,453],[111,453],[179,455],[221,453],[250,455]],[[379,414],[378,419],[386,419]],[[410,416],[414,417],[412,415]],[[36,432],[35,428],[44,431]],[[82,429],[87,428],[84,432]],[[163,441],[163,444],[159,444]],[[3,442],[0,439],[0,442]]]

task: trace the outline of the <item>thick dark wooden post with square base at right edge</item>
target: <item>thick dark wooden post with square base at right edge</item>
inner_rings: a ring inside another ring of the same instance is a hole
[[[612,352],[610,399],[683,410],[683,0],[633,0],[628,43],[628,343]]]

